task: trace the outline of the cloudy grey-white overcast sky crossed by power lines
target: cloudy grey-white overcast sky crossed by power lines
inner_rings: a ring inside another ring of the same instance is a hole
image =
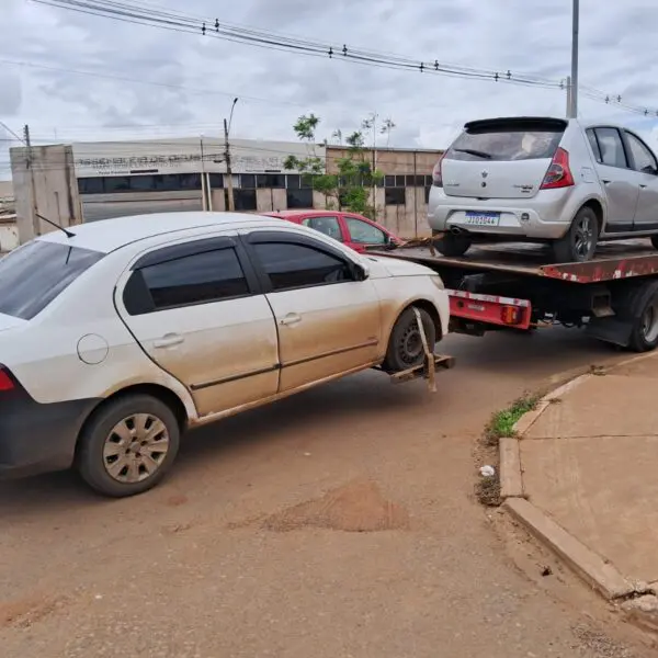
[[[149,0],[192,15],[413,58],[533,73],[570,67],[571,0]],[[580,79],[658,110],[658,2],[581,0]],[[443,148],[464,121],[565,113],[559,90],[400,72],[0,0],[0,121],[30,124],[36,144],[218,135],[234,97],[236,137],[293,139],[321,117],[319,138],[376,112],[392,146]],[[23,66],[8,64],[25,63]],[[27,64],[33,66],[26,66]],[[50,68],[36,68],[36,66]],[[52,70],[60,69],[60,70]],[[71,69],[129,78],[120,81]],[[184,89],[148,84],[158,82]],[[621,120],[658,147],[656,122],[580,99],[580,115]],[[8,178],[0,126],[0,178]],[[384,140],[384,139],[383,139]]]

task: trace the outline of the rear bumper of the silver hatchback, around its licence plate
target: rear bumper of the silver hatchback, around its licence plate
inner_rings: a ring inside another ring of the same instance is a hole
[[[554,240],[565,235],[578,209],[575,207],[571,212],[572,191],[574,189],[543,190],[532,198],[532,203],[523,203],[522,198],[446,196],[442,188],[432,188],[428,222],[433,230],[450,230],[455,227],[483,236]],[[500,213],[500,219],[497,226],[468,224],[468,211]]]

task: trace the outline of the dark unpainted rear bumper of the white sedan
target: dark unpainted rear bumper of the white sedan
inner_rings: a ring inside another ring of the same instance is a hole
[[[98,402],[84,399],[42,405],[21,390],[3,394],[0,478],[69,468],[82,424]]]

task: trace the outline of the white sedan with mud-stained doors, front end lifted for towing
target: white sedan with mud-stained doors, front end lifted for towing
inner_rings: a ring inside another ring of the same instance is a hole
[[[0,260],[0,475],[69,468],[149,489],[189,427],[422,363],[449,300],[431,270],[230,213],[122,217]]]

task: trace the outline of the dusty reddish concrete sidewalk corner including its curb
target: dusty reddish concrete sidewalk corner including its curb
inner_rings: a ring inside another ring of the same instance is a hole
[[[579,377],[517,429],[511,513],[608,598],[658,593],[658,354]]]

